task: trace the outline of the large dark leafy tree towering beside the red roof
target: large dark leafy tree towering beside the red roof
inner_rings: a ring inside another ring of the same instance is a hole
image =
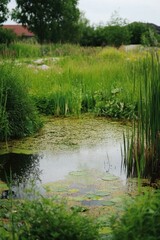
[[[38,40],[74,40],[80,16],[78,0],[16,0],[12,19],[27,26]]]

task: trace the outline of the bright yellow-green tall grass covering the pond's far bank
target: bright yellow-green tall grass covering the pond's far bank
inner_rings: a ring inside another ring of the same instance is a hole
[[[46,59],[44,63],[49,66],[46,71],[33,62],[32,67],[24,66],[22,74],[25,72],[30,94],[40,112],[56,116],[93,112],[132,118],[137,101],[137,94],[133,96],[132,91],[133,60],[113,48],[80,51],[80,55]]]

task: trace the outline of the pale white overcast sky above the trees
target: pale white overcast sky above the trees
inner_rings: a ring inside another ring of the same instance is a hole
[[[11,0],[9,6],[10,9],[15,7],[15,0]],[[79,0],[79,9],[91,24],[105,24],[117,11],[129,22],[150,22],[160,26],[160,0]]]

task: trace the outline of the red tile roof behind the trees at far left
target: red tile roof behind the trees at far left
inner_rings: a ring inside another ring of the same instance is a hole
[[[22,25],[3,25],[3,28],[11,29],[17,36],[25,36],[25,37],[34,37],[34,33],[28,31],[26,27]]]

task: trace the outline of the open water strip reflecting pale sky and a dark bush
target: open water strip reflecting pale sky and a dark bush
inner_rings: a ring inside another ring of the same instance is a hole
[[[64,179],[71,171],[97,169],[110,172],[125,179],[121,171],[121,153],[117,146],[97,145],[64,152],[43,151],[37,155],[6,154],[0,156],[0,179],[6,182],[6,175],[12,172],[14,183],[31,179],[42,183]]]

